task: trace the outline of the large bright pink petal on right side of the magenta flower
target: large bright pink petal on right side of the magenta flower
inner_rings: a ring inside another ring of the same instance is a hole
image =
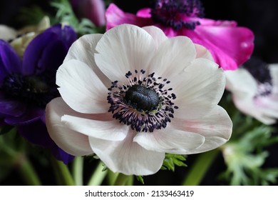
[[[215,62],[225,70],[235,70],[247,61],[254,49],[254,34],[244,27],[231,23],[196,26],[195,30],[183,30],[196,44],[210,50]],[[207,21],[206,21],[207,23]]]

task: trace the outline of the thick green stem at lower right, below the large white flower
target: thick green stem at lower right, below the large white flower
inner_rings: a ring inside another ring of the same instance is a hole
[[[195,163],[190,167],[185,180],[182,182],[183,186],[197,186],[200,185],[210,165],[217,157],[220,149],[214,149],[205,153],[199,154]]]

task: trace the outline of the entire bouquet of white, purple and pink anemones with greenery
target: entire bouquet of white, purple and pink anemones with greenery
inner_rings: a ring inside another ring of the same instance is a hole
[[[0,26],[0,182],[200,185],[221,166],[214,184],[277,184],[278,64],[202,1],[148,3],[53,0]]]

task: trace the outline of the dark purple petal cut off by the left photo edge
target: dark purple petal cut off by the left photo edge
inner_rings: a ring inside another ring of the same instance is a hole
[[[21,60],[11,45],[0,39],[0,86],[7,74],[18,73]]]

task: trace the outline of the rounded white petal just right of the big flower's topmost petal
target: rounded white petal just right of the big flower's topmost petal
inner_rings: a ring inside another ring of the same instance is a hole
[[[185,69],[196,57],[192,41],[185,36],[165,40],[150,61],[150,74],[155,72],[163,78],[171,78]]]

